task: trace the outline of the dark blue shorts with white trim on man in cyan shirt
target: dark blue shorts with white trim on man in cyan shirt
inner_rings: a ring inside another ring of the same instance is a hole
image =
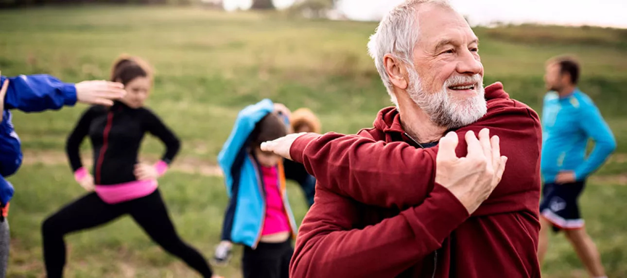
[[[584,220],[579,214],[577,199],[586,185],[586,181],[573,183],[545,183],[542,188],[540,214],[553,224],[553,230],[579,229],[584,227]]]

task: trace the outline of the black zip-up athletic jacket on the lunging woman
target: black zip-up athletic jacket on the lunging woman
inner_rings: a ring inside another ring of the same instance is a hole
[[[89,135],[95,184],[112,185],[136,180],[133,171],[146,132],[157,136],[166,145],[166,153],[161,160],[171,163],[181,143],[152,111],[130,108],[120,101],[115,101],[110,108],[100,105],[90,107],[68,136],[66,153],[72,170],[76,172],[82,167],[79,148],[85,136]]]

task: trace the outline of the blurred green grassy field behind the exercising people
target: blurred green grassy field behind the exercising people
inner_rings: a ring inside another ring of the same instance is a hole
[[[214,165],[238,110],[272,98],[312,108],[325,131],[354,133],[389,105],[366,54],[374,23],[306,21],[282,14],[227,14],[193,8],[75,8],[0,11],[3,75],[51,73],[66,81],[106,79],[120,53],[156,69],[149,106],[182,138],[178,168],[161,180],[184,239],[207,257],[219,239],[226,193]],[[600,28],[477,28],[485,83],[502,81],[512,97],[540,111],[544,61],[572,53],[584,66],[581,88],[598,103],[618,139],[618,152],[589,182],[581,205],[609,277],[627,277],[627,33]],[[56,113],[16,113],[29,163],[10,180],[12,253],[9,277],[43,277],[40,223],[83,194],[63,158],[65,137],[85,106]],[[88,150],[87,143],[83,145]],[[161,153],[149,138],[145,157]],[[175,163],[175,166],[176,164]],[[302,193],[290,184],[300,222]],[[162,252],[128,217],[67,237],[66,277],[196,277]],[[239,249],[237,250],[239,252]],[[239,257],[217,268],[239,277]],[[554,236],[545,277],[586,277],[562,235]]]

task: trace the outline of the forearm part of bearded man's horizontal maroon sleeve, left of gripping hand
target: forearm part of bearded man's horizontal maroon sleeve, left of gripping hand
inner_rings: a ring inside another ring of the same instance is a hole
[[[423,150],[339,133],[308,133],[290,149],[319,187],[368,205],[399,208],[421,203],[433,188],[436,152],[437,147]]]

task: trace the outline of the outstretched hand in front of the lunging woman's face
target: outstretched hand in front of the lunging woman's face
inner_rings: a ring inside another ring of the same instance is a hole
[[[104,80],[82,81],[76,83],[76,100],[93,105],[113,105],[113,100],[126,95],[124,85]]]

